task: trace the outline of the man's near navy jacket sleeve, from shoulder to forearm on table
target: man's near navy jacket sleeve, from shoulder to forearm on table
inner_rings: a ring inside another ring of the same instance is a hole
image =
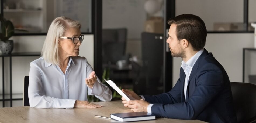
[[[223,74],[215,64],[207,63],[195,75],[197,86],[187,102],[154,104],[152,114],[168,118],[193,120],[215,98],[223,87]],[[191,81],[192,81],[191,79]]]

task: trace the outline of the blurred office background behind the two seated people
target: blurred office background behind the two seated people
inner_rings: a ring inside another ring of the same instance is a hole
[[[12,53],[41,52],[53,19],[67,16],[81,22],[85,39],[79,55],[87,57],[96,74],[140,95],[167,92],[178,80],[182,59],[171,57],[165,40],[167,20],[180,14],[195,14],[205,21],[208,30],[205,48],[223,65],[230,81],[254,84],[256,81],[255,51],[245,52],[243,67],[243,48],[254,48],[254,29],[250,24],[256,21],[256,0],[0,1],[4,18],[11,20],[16,29],[27,30],[15,31],[11,37]],[[3,88],[4,107],[22,106],[24,76],[29,75],[29,63],[39,57],[12,57],[12,64],[9,57],[4,60],[1,57],[0,107],[3,107]],[[12,66],[12,105],[8,100],[9,66]]]

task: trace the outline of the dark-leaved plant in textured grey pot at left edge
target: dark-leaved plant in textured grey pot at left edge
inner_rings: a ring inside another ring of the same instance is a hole
[[[0,50],[3,54],[9,54],[13,50],[13,40],[9,40],[14,34],[14,26],[11,21],[5,20],[0,14],[1,32],[0,32]]]

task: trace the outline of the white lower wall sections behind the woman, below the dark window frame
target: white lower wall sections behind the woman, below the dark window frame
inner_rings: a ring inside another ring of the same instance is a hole
[[[14,41],[13,52],[41,52],[43,48],[44,39],[46,36],[13,36],[11,39]],[[1,52],[0,52],[1,53]],[[80,46],[79,56],[87,58],[88,62],[94,67],[94,36],[85,35],[84,41]],[[23,93],[23,80],[24,76],[29,75],[29,63],[39,56],[26,56],[26,57],[12,57],[12,93]],[[2,58],[0,60],[0,83],[2,83]],[[9,58],[4,58],[5,64],[5,93],[9,93]],[[0,94],[2,94],[2,84],[0,85]],[[19,97],[22,98],[22,97]],[[9,103],[8,103],[9,104]],[[13,105],[15,106],[15,105]],[[16,106],[22,106],[22,102]],[[1,103],[0,103],[1,107]]]

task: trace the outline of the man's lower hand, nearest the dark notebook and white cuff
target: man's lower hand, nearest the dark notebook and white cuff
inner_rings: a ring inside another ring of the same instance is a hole
[[[133,112],[148,112],[147,107],[150,103],[144,101],[143,99],[140,100],[130,100],[126,101],[123,100],[124,107],[131,108]]]

